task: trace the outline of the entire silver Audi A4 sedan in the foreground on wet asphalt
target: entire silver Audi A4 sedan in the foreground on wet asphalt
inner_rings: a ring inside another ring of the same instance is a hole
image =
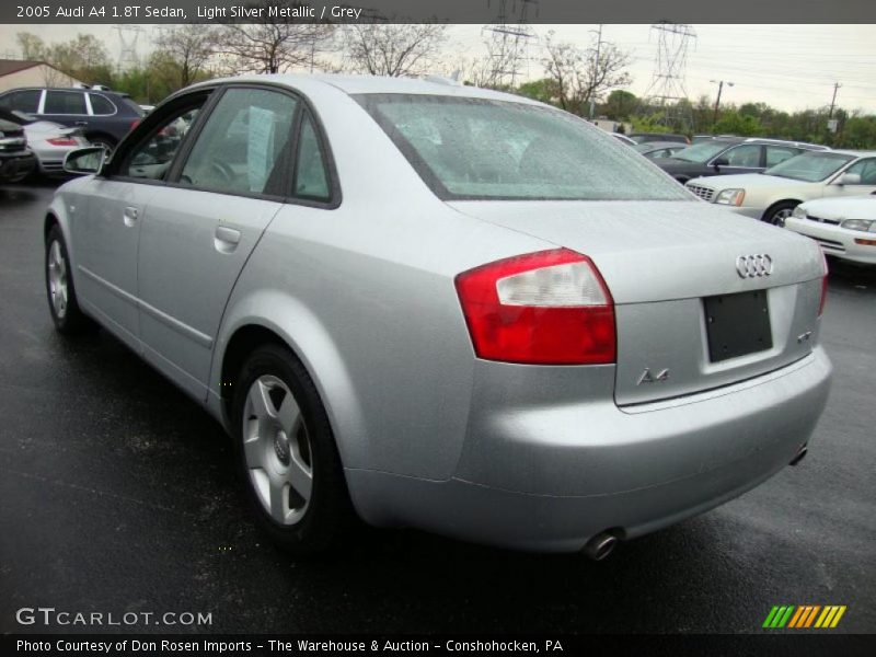
[[[219,418],[293,550],[358,515],[602,556],[799,458],[823,408],[818,245],[540,103],[235,78],[101,160],[46,215],[55,323]]]

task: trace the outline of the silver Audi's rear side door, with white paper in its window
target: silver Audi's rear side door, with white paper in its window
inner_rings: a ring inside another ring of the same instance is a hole
[[[288,195],[298,108],[277,89],[224,89],[173,184],[147,208],[138,256],[143,355],[198,399],[231,289]]]

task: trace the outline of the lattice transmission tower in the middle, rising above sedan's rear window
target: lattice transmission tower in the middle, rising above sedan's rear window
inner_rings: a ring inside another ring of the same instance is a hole
[[[487,0],[487,7],[489,4]],[[496,21],[481,31],[482,35],[487,35],[488,82],[491,87],[515,87],[528,61],[529,42],[538,38],[528,16],[530,10],[538,15],[539,0],[496,0]],[[517,22],[512,22],[512,18],[509,22],[509,14],[517,14]]]

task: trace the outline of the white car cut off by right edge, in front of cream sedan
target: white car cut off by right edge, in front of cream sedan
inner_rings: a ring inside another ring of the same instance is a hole
[[[812,238],[828,255],[876,265],[876,196],[804,203],[785,228]]]

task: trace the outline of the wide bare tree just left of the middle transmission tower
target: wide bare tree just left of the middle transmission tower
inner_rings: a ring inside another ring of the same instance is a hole
[[[345,25],[344,68],[372,76],[419,76],[437,70],[447,25],[440,23]]]

